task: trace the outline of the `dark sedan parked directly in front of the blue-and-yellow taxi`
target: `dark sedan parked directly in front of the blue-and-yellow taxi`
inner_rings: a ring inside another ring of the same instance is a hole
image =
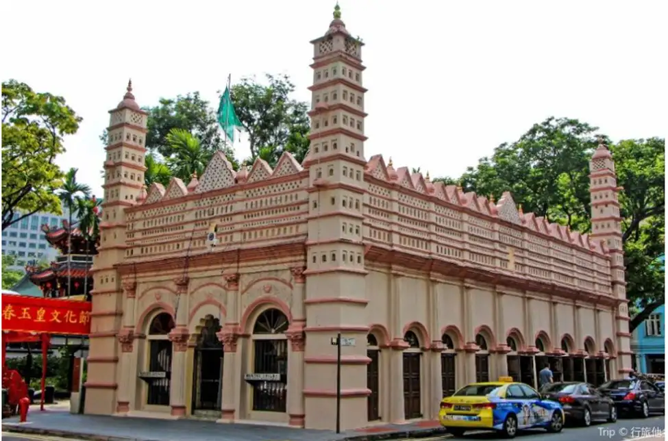
[[[541,388],[546,399],[561,403],[566,421],[589,426],[592,421],[617,421],[613,400],[587,383],[549,383]]]

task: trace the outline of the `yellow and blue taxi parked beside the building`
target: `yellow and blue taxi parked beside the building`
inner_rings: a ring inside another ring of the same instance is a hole
[[[564,427],[560,403],[543,399],[534,388],[511,377],[467,384],[441,401],[438,419],[454,436],[491,430],[515,438],[518,430],[542,428],[556,433]]]

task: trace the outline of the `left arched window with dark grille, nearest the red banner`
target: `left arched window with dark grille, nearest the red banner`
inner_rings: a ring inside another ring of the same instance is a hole
[[[149,342],[149,371],[140,375],[147,383],[147,405],[168,406],[172,370],[172,342],[169,331],[174,328],[172,316],[161,312],[151,320]]]

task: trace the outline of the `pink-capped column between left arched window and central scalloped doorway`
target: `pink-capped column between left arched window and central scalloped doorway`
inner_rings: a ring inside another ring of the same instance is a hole
[[[177,418],[186,416],[186,351],[188,350],[188,283],[187,276],[174,280],[178,299],[176,327],[169,333],[172,342],[172,371],[169,391],[171,414]]]

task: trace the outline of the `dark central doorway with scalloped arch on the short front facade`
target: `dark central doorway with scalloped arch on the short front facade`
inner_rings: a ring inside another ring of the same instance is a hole
[[[223,388],[223,344],[217,332],[221,322],[211,315],[203,320],[193,358],[193,414],[221,408]]]

